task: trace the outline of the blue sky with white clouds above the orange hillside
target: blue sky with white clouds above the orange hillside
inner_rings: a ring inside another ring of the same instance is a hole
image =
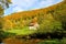
[[[20,11],[46,8],[61,1],[63,0],[12,0],[10,8],[4,10],[4,15]]]

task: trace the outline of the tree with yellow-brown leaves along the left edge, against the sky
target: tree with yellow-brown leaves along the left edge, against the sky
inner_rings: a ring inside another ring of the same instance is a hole
[[[3,28],[3,13],[4,13],[4,8],[9,8],[9,3],[11,3],[10,0],[0,0],[0,29]]]

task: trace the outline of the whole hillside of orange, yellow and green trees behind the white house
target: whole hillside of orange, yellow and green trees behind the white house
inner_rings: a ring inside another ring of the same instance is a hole
[[[66,1],[48,8],[12,13],[4,16],[3,29],[15,29],[29,26],[30,22],[37,22],[42,29],[65,29],[66,24]],[[47,30],[48,30],[47,29]]]

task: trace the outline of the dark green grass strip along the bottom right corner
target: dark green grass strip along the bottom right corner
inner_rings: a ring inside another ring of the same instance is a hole
[[[44,40],[40,42],[38,44],[66,44],[66,41],[59,41],[59,40]]]

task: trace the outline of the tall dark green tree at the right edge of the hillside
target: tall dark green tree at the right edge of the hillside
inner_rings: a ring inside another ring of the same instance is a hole
[[[54,11],[55,20],[62,22],[63,30],[66,30],[66,2],[64,4],[57,7]]]

